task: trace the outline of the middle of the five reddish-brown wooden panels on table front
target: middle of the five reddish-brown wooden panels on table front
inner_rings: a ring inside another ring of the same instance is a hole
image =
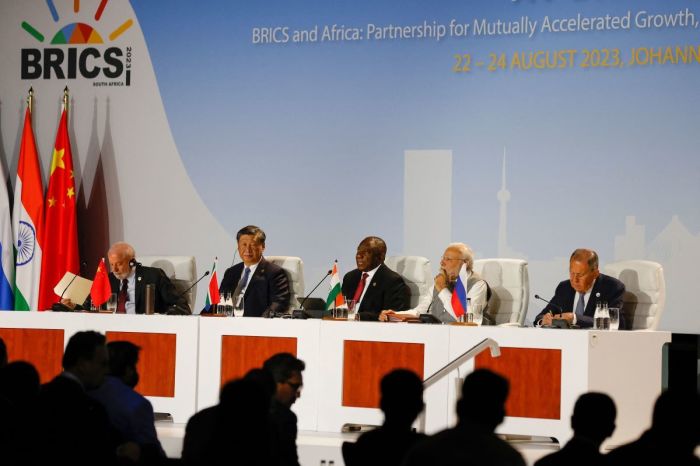
[[[262,367],[277,353],[297,355],[297,339],[293,337],[259,337],[224,335],[221,337],[221,385],[243,377],[249,370]]]

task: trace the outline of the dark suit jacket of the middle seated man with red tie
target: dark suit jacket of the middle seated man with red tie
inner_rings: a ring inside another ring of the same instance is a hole
[[[362,278],[358,269],[351,270],[343,277],[343,296],[352,299]],[[379,266],[372,281],[365,285],[367,291],[360,303],[360,320],[379,320],[379,313],[385,309],[405,311],[411,307],[411,290],[401,275],[386,265]]]

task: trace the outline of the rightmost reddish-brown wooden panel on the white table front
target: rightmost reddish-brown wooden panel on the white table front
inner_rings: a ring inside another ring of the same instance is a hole
[[[503,348],[501,356],[488,352],[476,357],[477,369],[491,369],[508,379],[506,415],[537,419],[561,416],[561,350]]]

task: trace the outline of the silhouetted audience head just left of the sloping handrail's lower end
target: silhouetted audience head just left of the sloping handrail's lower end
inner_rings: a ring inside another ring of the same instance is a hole
[[[380,382],[381,400],[379,407],[384,412],[385,424],[413,424],[423,411],[423,382],[415,372],[396,369]]]

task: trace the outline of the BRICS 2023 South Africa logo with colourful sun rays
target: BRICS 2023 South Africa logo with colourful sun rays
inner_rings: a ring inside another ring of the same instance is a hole
[[[100,0],[95,12],[96,22],[99,23],[108,2],[109,0]],[[80,12],[80,0],[64,0],[62,4],[71,4],[75,14]],[[46,0],[46,5],[54,22],[60,24],[61,15],[54,1]],[[132,19],[127,19],[109,32],[109,42],[114,42],[133,23]],[[93,80],[94,86],[131,85],[131,47],[101,47],[105,44],[105,39],[96,27],[69,22],[60,27],[50,41],[28,21],[22,21],[22,29],[40,43],[47,42],[53,46],[22,49],[22,79],[65,80],[82,77]]]

